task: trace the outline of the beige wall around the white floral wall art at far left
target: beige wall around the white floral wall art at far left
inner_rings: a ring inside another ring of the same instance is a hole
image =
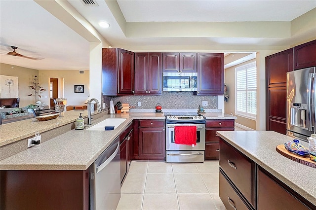
[[[28,96],[33,93],[33,90],[29,86],[32,85],[34,75],[39,75],[39,70],[0,63],[0,74],[18,77],[20,98],[19,107],[35,103],[35,97]]]

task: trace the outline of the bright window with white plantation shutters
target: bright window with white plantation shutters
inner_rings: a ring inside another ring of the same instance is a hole
[[[257,68],[256,62],[235,69],[235,113],[256,119],[257,114]]]

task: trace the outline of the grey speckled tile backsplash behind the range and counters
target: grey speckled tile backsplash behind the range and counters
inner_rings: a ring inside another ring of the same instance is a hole
[[[207,109],[217,108],[217,96],[195,96],[193,92],[162,92],[160,96],[103,96],[103,103],[107,108],[110,106],[110,100],[113,99],[114,105],[117,102],[128,103],[137,108],[151,109],[158,103],[164,109],[196,109],[198,105],[202,106],[202,101],[207,101]],[[141,106],[137,106],[141,102]]]

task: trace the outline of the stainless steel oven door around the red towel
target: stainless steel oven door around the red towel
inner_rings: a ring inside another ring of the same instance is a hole
[[[197,127],[197,145],[194,147],[185,144],[176,144],[174,142],[175,126],[196,126]],[[167,124],[166,125],[166,150],[191,151],[205,150],[205,124]]]

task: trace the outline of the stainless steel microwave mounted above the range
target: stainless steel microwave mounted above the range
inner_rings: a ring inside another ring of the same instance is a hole
[[[197,72],[162,73],[162,91],[197,91]]]

